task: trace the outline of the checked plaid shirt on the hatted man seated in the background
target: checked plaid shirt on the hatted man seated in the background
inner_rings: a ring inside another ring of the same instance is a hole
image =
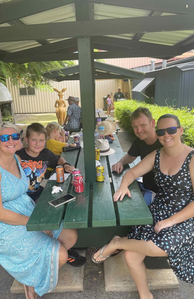
[[[71,104],[67,109],[67,115],[70,116],[67,126],[72,129],[78,129],[80,126],[80,118],[81,118],[81,107],[76,104]]]

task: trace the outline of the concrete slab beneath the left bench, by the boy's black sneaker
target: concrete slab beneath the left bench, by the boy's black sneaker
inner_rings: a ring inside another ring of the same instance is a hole
[[[85,250],[78,253],[85,256]],[[51,293],[83,291],[84,266],[72,267],[68,264],[59,269],[56,288]],[[24,293],[24,287],[16,279],[10,288],[11,293]]]

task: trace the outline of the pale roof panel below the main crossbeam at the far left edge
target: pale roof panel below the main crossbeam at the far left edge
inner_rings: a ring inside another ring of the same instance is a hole
[[[10,53],[26,50],[41,46],[35,40],[28,40],[22,42],[0,42],[0,50],[8,51]]]

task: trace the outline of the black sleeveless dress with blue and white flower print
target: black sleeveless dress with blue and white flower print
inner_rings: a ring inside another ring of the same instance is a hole
[[[154,179],[159,191],[148,206],[153,216],[153,224],[133,226],[128,239],[152,240],[168,254],[175,274],[181,280],[194,283],[194,218],[164,228],[159,233],[153,230],[158,221],[169,218],[194,200],[189,171],[194,150],[187,155],[181,169],[173,176],[161,172],[160,151],[161,149],[156,151],[154,162]]]

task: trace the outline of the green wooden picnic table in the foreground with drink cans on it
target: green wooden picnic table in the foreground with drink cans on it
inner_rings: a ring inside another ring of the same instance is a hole
[[[98,247],[114,235],[126,236],[131,225],[152,223],[152,215],[136,181],[129,187],[132,198],[125,196],[122,201],[113,202],[113,194],[118,189],[122,176],[130,168],[125,166],[121,174],[111,171],[112,165],[124,155],[115,133],[114,137],[110,147],[115,153],[100,158],[100,163],[104,165],[105,181],[84,183],[84,192],[75,193],[71,184],[72,175],[63,184],[48,180],[27,222],[27,231],[56,230],[63,222],[64,228],[76,228],[78,231],[75,247]],[[61,156],[81,169],[85,176],[84,148],[62,152]],[[51,194],[54,185],[60,186],[63,192]],[[48,204],[66,193],[75,195],[76,199],[58,208]]]

